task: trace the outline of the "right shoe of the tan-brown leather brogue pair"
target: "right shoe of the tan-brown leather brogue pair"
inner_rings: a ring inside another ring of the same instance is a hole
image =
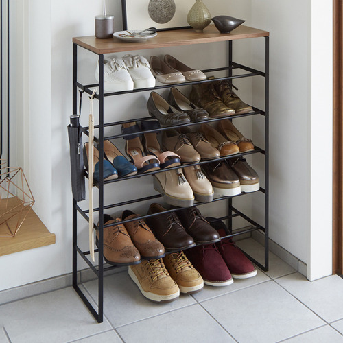
[[[123,211],[122,220],[129,220],[139,215],[130,210]],[[152,230],[145,224],[144,220],[135,220],[124,224],[132,239],[134,246],[139,250],[141,257],[146,259],[159,259],[165,256],[165,247],[156,239]]]

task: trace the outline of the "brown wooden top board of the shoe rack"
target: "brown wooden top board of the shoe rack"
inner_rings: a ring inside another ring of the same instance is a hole
[[[195,32],[194,29],[177,29],[161,31],[154,38],[143,42],[125,42],[118,38],[99,39],[95,36],[75,37],[73,43],[93,51],[95,54],[110,54],[114,52],[154,49],[157,47],[175,47],[178,45],[190,45],[211,42],[223,42],[226,40],[257,38],[269,36],[269,32],[261,29],[241,25],[230,34],[221,34],[215,25],[209,25],[204,32]]]

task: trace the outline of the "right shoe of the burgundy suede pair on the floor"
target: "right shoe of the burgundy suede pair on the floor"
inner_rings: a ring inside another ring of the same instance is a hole
[[[211,221],[215,218],[207,217],[206,220]],[[226,236],[226,226],[222,221],[211,222],[220,237]],[[232,239],[224,238],[222,241],[216,243],[222,258],[227,267],[230,269],[231,275],[234,279],[248,279],[257,274],[257,270],[252,265],[251,261],[244,255],[244,253],[235,245]],[[201,274],[201,273],[200,273]]]

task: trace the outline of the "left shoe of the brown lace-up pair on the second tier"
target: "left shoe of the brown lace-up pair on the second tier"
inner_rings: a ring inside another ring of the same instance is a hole
[[[217,91],[215,91],[213,82],[193,84],[189,99],[197,106],[204,108],[211,118],[235,114],[235,110],[226,106]]]

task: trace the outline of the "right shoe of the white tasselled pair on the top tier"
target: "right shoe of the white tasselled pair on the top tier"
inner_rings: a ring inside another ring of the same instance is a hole
[[[141,55],[132,56],[126,54],[123,56],[128,72],[134,82],[134,88],[154,87],[156,80],[150,71],[149,62]]]

